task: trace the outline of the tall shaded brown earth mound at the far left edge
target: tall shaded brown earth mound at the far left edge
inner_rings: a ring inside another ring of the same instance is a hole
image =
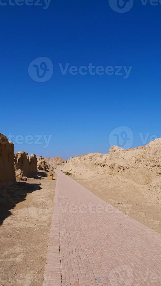
[[[0,133],[0,182],[15,180],[14,144]]]

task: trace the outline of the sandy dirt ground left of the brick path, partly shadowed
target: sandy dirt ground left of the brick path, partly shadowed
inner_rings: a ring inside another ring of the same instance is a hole
[[[0,285],[43,285],[56,174],[0,186]]]

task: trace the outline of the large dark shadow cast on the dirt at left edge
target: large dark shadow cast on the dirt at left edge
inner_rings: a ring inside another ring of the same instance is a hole
[[[12,214],[9,210],[13,209],[17,203],[24,201],[27,193],[41,189],[41,183],[12,182],[0,185],[0,225]]]

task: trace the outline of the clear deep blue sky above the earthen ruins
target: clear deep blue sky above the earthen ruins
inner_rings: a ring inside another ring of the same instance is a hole
[[[8,1],[0,0],[0,132],[13,136],[15,151],[69,158],[108,153],[119,132],[121,138],[133,136],[124,148],[161,137],[161,4],[137,0],[131,10],[117,13],[108,0],[51,0],[47,9],[43,0],[42,6]],[[31,63],[39,57],[49,60]],[[60,66],[67,63],[62,74]],[[74,75],[71,66],[85,66],[87,74]],[[99,74],[98,66],[111,67]],[[50,79],[36,81],[46,68]]]

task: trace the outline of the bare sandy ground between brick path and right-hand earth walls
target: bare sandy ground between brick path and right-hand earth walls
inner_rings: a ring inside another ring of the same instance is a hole
[[[138,185],[132,180],[111,177],[107,173],[88,179],[70,177],[136,221],[161,233],[160,204],[147,202],[144,196],[146,186]]]

